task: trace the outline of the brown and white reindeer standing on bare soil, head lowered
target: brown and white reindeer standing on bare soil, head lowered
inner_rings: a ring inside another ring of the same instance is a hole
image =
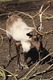
[[[41,35],[38,31],[35,31],[35,36],[33,36],[31,32],[34,30],[34,27],[29,27],[17,14],[9,16],[6,21],[6,35],[9,39],[9,56],[11,57],[10,47],[11,39],[13,39],[17,51],[17,65],[20,69],[28,69],[25,54],[31,49],[31,45],[34,45],[38,51],[41,48]],[[21,47],[22,52],[20,52]],[[22,59],[21,54],[23,55]]]

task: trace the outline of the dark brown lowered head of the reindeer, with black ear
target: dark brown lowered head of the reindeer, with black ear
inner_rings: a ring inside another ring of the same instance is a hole
[[[31,44],[39,51],[42,50],[43,48],[43,44],[42,44],[42,35],[41,33],[39,34],[39,31],[37,29],[36,31],[32,31],[30,33],[27,34],[28,36],[30,36],[31,40]]]

